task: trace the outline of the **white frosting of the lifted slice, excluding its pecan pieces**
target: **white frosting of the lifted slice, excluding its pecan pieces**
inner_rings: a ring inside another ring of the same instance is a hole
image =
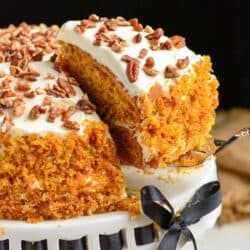
[[[79,47],[93,56],[99,63],[108,67],[117,79],[124,85],[125,89],[131,96],[140,96],[147,93],[150,88],[159,83],[164,91],[168,91],[169,86],[174,83],[172,78],[166,78],[164,71],[166,66],[175,66],[178,59],[189,58],[189,64],[186,68],[178,71],[179,75],[183,75],[189,71],[193,71],[192,64],[198,61],[201,56],[196,55],[186,46],[183,48],[172,48],[171,50],[152,50],[150,49],[150,42],[146,38],[149,33],[144,31],[137,32],[132,26],[118,26],[115,31],[108,31],[108,35],[116,35],[126,41],[128,46],[124,47],[121,53],[114,52],[106,44],[100,46],[94,45],[95,34],[98,32],[104,22],[96,22],[96,27],[87,28],[84,33],[75,31],[75,27],[79,25],[79,21],[66,22],[57,36],[58,40],[70,43]],[[140,33],[142,40],[140,43],[133,41],[134,37]],[[165,42],[169,38],[162,36],[159,42]],[[144,59],[140,59],[140,71],[138,79],[131,83],[126,74],[127,63],[121,60],[123,55],[128,55],[138,59],[138,55],[142,49],[147,49],[147,55]],[[159,71],[156,76],[149,76],[143,71],[143,66],[148,57],[153,57],[155,61],[154,69]]]

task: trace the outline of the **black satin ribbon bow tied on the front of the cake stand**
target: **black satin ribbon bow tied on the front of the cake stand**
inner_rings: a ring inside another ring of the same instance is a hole
[[[180,235],[197,244],[188,226],[198,222],[203,216],[216,209],[222,201],[220,183],[209,182],[203,185],[192,197],[191,201],[176,216],[174,208],[162,193],[154,186],[141,189],[142,209],[145,215],[152,219],[162,229],[168,230],[164,235],[158,250],[176,250]]]

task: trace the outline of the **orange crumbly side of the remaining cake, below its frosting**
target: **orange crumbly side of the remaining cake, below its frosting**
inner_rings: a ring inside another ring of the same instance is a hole
[[[66,219],[106,212],[125,198],[125,183],[101,122],[64,137],[1,136],[0,219]]]

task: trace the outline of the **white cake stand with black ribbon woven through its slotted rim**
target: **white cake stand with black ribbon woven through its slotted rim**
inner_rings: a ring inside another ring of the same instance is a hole
[[[200,186],[217,179],[214,159],[189,173],[165,169],[145,175],[129,166],[125,166],[123,171],[133,191],[138,191],[145,184],[153,184],[160,188],[176,211],[185,206]],[[214,226],[220,210],[220,207],[217,208],[189,227],[195,238]],[[38,224],[1,220],[0,250],[156,250],[163,233],[153,227],[152,221],[144,215],[132,220],[127,212]],[[142,242],[140,236],[146,240]],[[112,245],[114,241],[115,248]],[[178,248],[186,249],[188,244],[180,240]]]

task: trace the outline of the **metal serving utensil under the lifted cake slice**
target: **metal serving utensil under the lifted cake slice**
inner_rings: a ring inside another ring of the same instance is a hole
[[[231,136],[228,140],[215,139],[214,144],[215,144],[215,146],[217,146],[217,149],[213,153],[206,155],[205,158],[196,162],[195,164],[178,165],[178,167],[188,168],[188,167],[194,167],[194,166],[200,165],[200,164],[204,163],[205,161],[211,159],[211,157],[217,156],[221,151],[223,151],[229,145],[231,145],[232,143],[234,143],[235,141],[237,141],[241,137],[245,137],[245,136],[250,136],[250,128],[241,129],[240,131],[235,133],[233,136]],[[201,151],[201,150],[193,150],[192,152],[204,154],[204,155],[206,154],[205,151]]]

